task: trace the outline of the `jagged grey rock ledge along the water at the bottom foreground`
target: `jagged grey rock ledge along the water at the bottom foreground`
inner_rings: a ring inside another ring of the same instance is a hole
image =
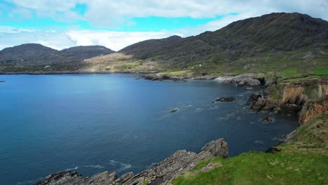
[[[146,169],[139,174],[128,172],[118,178],[116,172],[105,171],[91,177],[83,178],[77,172],[61,171],[50,174],[35,185],[166,185],[171,184],[172,179],[180,177],[184,172],[195,168],[198,161],[217,156],[223,158],[228,157],[228,145],[222,138],[205,144],[198,153],[179,150],[154,167]]]

